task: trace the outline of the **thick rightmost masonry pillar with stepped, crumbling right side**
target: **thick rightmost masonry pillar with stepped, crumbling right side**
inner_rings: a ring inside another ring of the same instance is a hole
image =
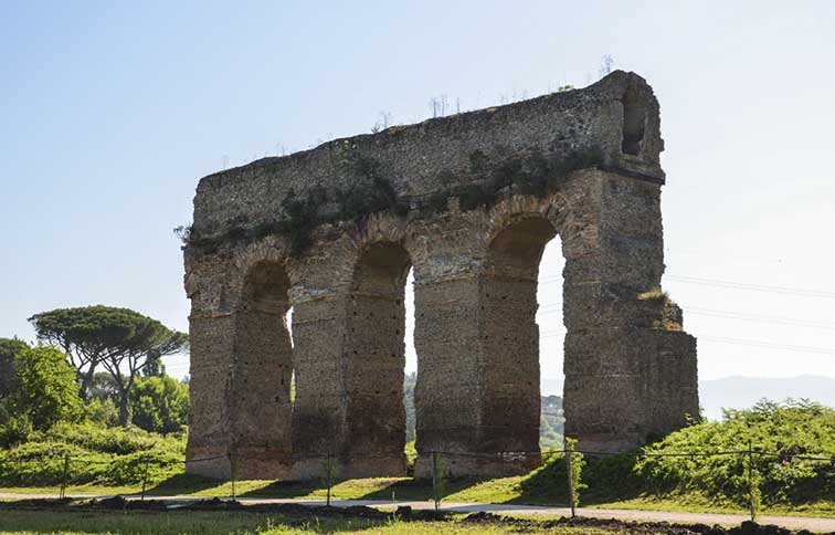
[[[696,342],[658,293],[660,185],[589,171],[582,189],[563,237],[566,434],[623,451],[698,416]]]

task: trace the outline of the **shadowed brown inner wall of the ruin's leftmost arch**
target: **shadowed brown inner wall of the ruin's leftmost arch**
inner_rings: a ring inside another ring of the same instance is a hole
[[[235,312],[230,448],[240,457],[240,476],[282,478],[292,463],[288,290],[283,264],[257,263],[246,274]]]

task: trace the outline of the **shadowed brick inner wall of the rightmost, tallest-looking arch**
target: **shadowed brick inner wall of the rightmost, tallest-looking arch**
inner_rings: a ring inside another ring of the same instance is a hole
[[[562,326],[559,314],[541,315],[547,326],[540,329],[537,293],[542,254],[556,235],[553,225],[538,216],[507,225],[489,245],[488,272],[480,291],[488,370],[482,442],[486,451],[518,452],[511,471],[529,470],[540,461],[540,340],[549,355],[554,347],[561,348],[554,335],[562,334]],[[546,279],[549,283],[561,279],[553,276],[549,273]],[[549,363],[547,369],[554,367]]]

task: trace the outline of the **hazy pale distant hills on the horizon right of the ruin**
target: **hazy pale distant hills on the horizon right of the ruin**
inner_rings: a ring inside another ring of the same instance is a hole
[[[542,396],[562,396],[562,379],[542,379]],[[699,381],[699,397],[705,416],[720,420],[722,408],[746,409],[762,398],[782,401],[806,398],[835,407],[835,378],[802,375],[770,379],[764,377],[726,377]]]

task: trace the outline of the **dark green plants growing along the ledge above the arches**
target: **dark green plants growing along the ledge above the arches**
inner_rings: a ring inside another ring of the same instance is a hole
[[[533,149],[500,161],[475,150],[469,155],[468,169],[458,174],[448,169],[440,172],[443,189],[427,196],[401,196],[377,159],[347,147],[338,155],[339,170],[348,177],[347,187],[330,192],[317,185],[304,193],[290,191],[282,200],[284,217],[277,221],[250,227],[245,221],[235,222],[216,237],[200,237],[191,227],[178,227],[175,233],[184,246],[201,252],[212,252],[235,241],[284,235],[290,252],[299,254],[310,245],[314,231],[323,224],[356,224],[380,212],[424,218],[448,210],[453,199],[457,200],[458,209],[471,211],[489,208],[503,196],[512,193],[545,198],[563,185],[572,171],[596,167],[603,161],[603,153],[596,147],[575,150],[566,157]],[[458,175],[474,180],[456,185]]]

